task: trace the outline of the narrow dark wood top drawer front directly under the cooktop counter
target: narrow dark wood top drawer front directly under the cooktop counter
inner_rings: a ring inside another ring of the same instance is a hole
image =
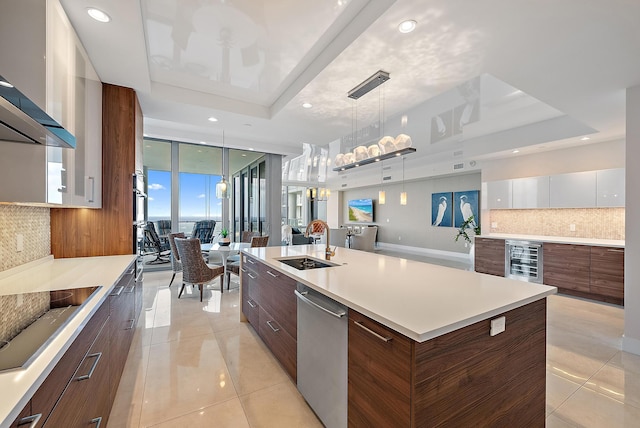
[[[109,317],[109,304],[103,303],[91,320],[78,335],[73,344],[65,352],[62,359],[56,364],[49,376],[31,398],[31,411],[34,414],[42,414],[42,418],[36,426],[43,426],[48,415],[53,410],[56,402],[70,383],[73,374],[87,355],[89,348],[96,336],[107,322]],[[60,425],[64,426],[64,425]]]

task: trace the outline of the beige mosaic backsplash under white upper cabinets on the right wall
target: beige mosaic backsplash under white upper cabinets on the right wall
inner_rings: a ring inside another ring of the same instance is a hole
[[[490,218],[491,233],[624,240],[624,208],[491,210]]]

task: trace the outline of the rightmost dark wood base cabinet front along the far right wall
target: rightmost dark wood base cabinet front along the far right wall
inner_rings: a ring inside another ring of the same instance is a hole
[[[592,293],[624,299],[624,248],[591,247],[590,286]]]

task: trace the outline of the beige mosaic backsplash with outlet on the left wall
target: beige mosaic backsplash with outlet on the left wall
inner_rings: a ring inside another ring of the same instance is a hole
[[[49,208],[0,205],[0,271],[41,259],[51,254]],[[16,235],[24,249],[16,251]]]

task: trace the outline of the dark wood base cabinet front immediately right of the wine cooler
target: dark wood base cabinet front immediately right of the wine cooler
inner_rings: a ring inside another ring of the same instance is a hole
[[[543,245],[543,282],[558,288],[588,293],[591,247],[587,245]]]

